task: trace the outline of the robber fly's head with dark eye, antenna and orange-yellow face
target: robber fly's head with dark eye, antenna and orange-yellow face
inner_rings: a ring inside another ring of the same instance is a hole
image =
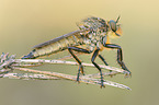
[[[107,22],[107,26],[109,26],[109,34],[112,36],[121,36],[122,35],[122,30],[121,30],[121,24],[117,24],[120,20],[120,16],[117,18],[116,21],[114,20],[110,20]]]

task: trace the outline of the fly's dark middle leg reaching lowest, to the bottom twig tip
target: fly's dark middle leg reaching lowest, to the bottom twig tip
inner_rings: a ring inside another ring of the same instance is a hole
[[[102,74],[102,70],[101,70],[101,68],[99,67],[99,65],[98,65],[96,62],[94,62],[96,56],[99,55],[99,51],[100,51],[100,49],[95,49],[95,51],[94,51],[94,54],[93,54],[93,56],[92,56],[91,61],[92,61],[92,63],[93,63],[93,65],[99,69],[99,71],[100,71],[100,74],[101,74],[101,88],[102,88],[102,86],[105,88],[105,85],[103,84],[103,74]]]

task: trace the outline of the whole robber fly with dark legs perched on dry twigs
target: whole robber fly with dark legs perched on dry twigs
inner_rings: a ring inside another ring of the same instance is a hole
[[[83,73],[83,66],[81,60],[75,54],[75,51],[92,54],[91,61],[94,65],[94,67],[100,71],[101,88],[104,88],[102,70],[99,67],[99,65],[94,61],[95,58],[99,57],[107,66],[105,59],[100,55],[100,51],[102,51],[104,47],[117,49],[117,62],[124,70],[128,71],[128,74],[130,75],[130,71],[126,68],[123,61],[122,47],[116,44],[110,43],[111,36],[120,37],[122,34],[121,25],[117,24],[118,20],[120,16],[116,21],[104,21],[101,18],[94,16],[87,18],[78,24],[78,31],[65,34],[52,40],[34,46],[34,49],[27,56],[22,57],[22,59],[35,59],[38,57],[56,54],[68,49],[70,55],[79,63],[77,74],[77,81],[79,81],[80,73]]]

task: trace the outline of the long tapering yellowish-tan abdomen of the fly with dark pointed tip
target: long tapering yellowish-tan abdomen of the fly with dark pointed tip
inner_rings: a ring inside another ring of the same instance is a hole
[[[34,59],[65,50],[68,47],[82,45],[84,36],[81,35],[81,31],[75,31],[46,43],[36,45],[34,46],[34,49],[27,56],[22,57],[22,59]]]

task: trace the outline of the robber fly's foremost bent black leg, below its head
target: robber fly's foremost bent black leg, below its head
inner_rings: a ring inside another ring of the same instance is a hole
[[[123,61],[123,52],[122,52],[122,47],[115,44],[105,44],[104,47],[112,48],[112,49],[117,49],[117,62],[122,67],[122,69],[126,70],[129,72],[129,75],[132,75],[130,71],[126,68],[124,61]]]

